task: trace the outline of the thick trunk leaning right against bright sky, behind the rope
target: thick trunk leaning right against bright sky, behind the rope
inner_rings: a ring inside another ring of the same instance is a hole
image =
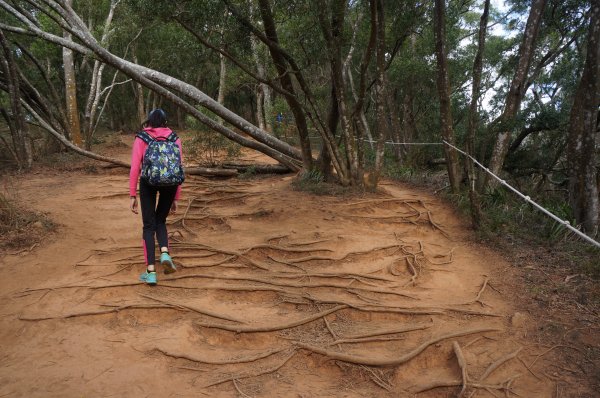
[[[533,0],[531,3],[525,33],[523,34],[523,41],[519,48],[517,69],[506,97],[504,110],[498,120],[499,132],[490,159],[489,169],[496,175],[500,173],[502,166],[504,165],[504,159],[508,153],[512,131],[514,129],[511,125],[515,122],[515,117],[517,112],[519,112],[521,101],[525,96],[527,75],[531,66],[531,60],[535,49],[535,40],[538,36],[538,30],[542,22],[542,14],[545,6],[546,0]],[[485,179],[483,179],[483,186],[493,187],[496,184],[496,180],[486,174]]]

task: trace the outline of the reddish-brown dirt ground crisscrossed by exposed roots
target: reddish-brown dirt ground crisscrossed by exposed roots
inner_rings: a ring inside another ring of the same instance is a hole
[[[58,227],[0,253],[0,397],[599,396],[588,277],[486,247],[424,189],[294,179],[188,177],[178,272],[149,287],[127,170],[2,177]]]

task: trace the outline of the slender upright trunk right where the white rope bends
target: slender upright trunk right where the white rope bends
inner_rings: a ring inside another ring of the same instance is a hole
[[[452,109],[450,103],[450,81],[448,79],[448,60],[446,54],[446,6],[444,0],[435,0],[434,31],[435,55],[437,58],[438,73],[437,87],[440,101],[440,128],[442,137],[450,144],[454,144],[454,128]],[[460,179],[458,176],[458,155],[454,149],[444,145],[446,152],[446,166],[448,179],[453,193],[458,193]]]

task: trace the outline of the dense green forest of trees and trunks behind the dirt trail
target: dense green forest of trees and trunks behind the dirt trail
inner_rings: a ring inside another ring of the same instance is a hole
[[[598,0],[0,0],[0,21],[5,164],[117,162],[99,131],[162,107],[344,186],[442,163],[478,223],[497,182],[445,141],[598,231]]]

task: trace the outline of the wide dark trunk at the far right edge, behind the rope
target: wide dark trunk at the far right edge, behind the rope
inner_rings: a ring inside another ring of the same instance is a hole
[[[598,106],[600,105],[600,1],[592,1],[585,66],[569,123],[569,202],[584,231],[596,235],[600,222],[598,188]]]

